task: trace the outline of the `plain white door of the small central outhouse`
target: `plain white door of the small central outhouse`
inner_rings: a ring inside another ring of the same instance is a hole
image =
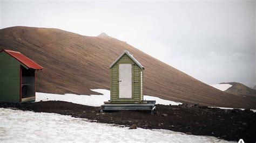
[[[131,64],[119,64],[119,98],[132,98]]]

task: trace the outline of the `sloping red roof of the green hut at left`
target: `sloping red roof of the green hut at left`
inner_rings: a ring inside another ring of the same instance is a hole
[[[43,69],[43,67],[41,67],[40,65],[38,65],[36,62],[30,60],[28,57],[26,57],[25,55],[23,55],[22,53],[16,52],[16,51],[11,51],[9,49],[3,49],[1,52],[6,52],[9,55],[11,55],[12,57],[14,57],[16,60],[18,60],[19,62],[23,63],[25,66],[27,66],[28,68],[32,68],[32,69]]]

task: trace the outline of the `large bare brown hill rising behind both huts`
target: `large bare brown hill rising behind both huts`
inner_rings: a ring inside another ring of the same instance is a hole
[[[256,109],[256,98],[227,94],[161,62],[126,42],[100,34],[87,37],[54,28],[0,30],[0,49],[19,51],[39,63],[37,92],[96,94],[109,89],[109,65],[127,49],[145,67],[144,94],[182,103]]]

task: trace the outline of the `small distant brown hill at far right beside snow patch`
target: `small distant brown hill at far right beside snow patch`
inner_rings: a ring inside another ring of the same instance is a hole
[[[232,87],[225,90],[225,92],[228,92],[230,94],[256,95],[256,90],[251,89],[251,88],[247,87],[246,85],[238,83],[238,82],[227,82],[227,83],[220,83],[220,84],[231,84]]]

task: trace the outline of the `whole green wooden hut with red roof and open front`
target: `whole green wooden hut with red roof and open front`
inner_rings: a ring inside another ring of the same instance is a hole
[[[39,69],[43,67],[19,52],[0,51],[0,102],[35,101]]]

